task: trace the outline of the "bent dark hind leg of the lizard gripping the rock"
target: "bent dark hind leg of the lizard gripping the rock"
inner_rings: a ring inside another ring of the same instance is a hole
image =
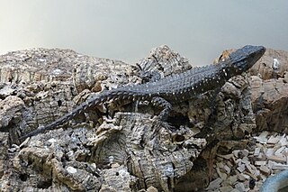
[[[161,121],[166,121],[168,118],[169,112],[172,110],[172,105],[168,101],[166,101],[166,99],[160,96],[154,96],[151,99],[151,103],[154,106],[163,108],[160,114],[158,114],[158,117]]]

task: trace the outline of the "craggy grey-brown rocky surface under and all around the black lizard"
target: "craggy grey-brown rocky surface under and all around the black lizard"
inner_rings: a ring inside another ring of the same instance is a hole
[[[20,135],[54,121],[103,89],[156,80],[192,65],[167,46],[151,50],[136,65],[72,50],[2,55],[0,188],[197,191],[207,187],[236,192],[246,191],[251,178],[257,188],[274,172],[268,164],[261,167],[250,160],[260,153],[264,155],[257,161],[271,160],[266,154],[271,146],[254,142],[254,137],[263,130],[287,128],[287,56],[285,51],[267,50],[248,75],[232,78],[220,91],[175,105],[167,123],[153,118],[157,110],[145,103],[115,101],[20,143]],[[286,147],[275,144],[273,155],[286,155],[278,146]],[[226,159],[231,152],[234,159]],[[259,174],[251,176],[249,168]]]

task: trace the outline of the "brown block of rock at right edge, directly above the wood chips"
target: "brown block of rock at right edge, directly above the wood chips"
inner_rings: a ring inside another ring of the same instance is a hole
[[[252,77],[250,84],[258,131],[287,133],[288,84],[282,79],[263,80],[258,77]]]

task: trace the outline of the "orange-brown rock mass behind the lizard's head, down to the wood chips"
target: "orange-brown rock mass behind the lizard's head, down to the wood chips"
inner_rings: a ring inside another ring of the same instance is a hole
[[[219,59],[225,59],[225,50]],[[216,59],[216,60],[219,60]],[[257,131],[288,131],[288,51],[267,49],[249,70],[253,112]]]

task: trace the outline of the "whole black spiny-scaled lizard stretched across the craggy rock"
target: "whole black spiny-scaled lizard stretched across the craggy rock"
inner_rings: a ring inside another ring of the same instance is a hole
[[[172,109],[170,103],[179,103],[209,90],[222,87],[229,78],[250,69],[265,51],[265,47],[247,45],[232,52],[228,59],[216,65],[193,68],[184,73],[161,78],[155,82],[105,90],[98,96],[94,96],[83,104],[76,106],[69,114],[65,114],[55,122],[24,135],[20,140],[66,123],[77,114],[83,113],[87,108],[112,99],[147,100],[153,105],[163,108],[158,116],[165,120]]]

